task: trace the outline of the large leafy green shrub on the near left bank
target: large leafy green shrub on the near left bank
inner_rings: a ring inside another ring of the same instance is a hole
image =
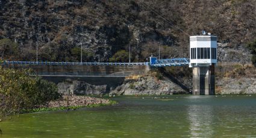
[[[31,70],[0,67],[0,115],[33,109],[60,97],[54,83],[28,76]]]

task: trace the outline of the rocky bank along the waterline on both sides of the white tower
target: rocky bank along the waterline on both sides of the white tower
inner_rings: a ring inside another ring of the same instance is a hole
[[[173,72],[179,71],[175,69]],[[187,70],[186,70],[187,71]],[[256,94],[256,70],[250,64],[219,63],[216,66],[216,94]],[[140,76],[126,77],[118,86],[92,85],[86,81],[58,83],[63,95],[171,95],[191,94],[192,76],[153,70]]]

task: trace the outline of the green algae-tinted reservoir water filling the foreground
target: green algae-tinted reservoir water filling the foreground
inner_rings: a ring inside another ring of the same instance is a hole
[[[119,104],[13,116],[0,137],[256,137],[256,95],[111,99]]]

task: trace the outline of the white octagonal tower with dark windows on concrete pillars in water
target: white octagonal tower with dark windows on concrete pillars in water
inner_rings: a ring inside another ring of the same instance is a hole
[[[190,64],[193,67],[193,95],[215,94],[214,65],[217,64],[217,37],[190,37]]]

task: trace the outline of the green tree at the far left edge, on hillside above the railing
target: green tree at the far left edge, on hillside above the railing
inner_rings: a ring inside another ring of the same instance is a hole
[[[18,46],[17,43],[11,41],[10,39],[2,39],[0,40],[0,54],[1,59],[4,56],[16,56],[17,55]]]

